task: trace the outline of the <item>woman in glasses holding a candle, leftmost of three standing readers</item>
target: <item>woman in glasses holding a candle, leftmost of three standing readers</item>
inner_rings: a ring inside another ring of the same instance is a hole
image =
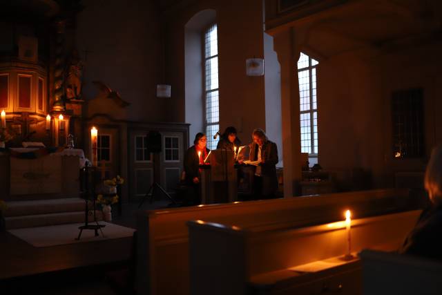
[[[193,146],[184,155],[184,171],[186,173],[186,184],[189,186],[187,204],[200,204],[200,164],[204,164],[204,159],[209,153],[206,147],[207,137],[204,133],[197,133]]]

